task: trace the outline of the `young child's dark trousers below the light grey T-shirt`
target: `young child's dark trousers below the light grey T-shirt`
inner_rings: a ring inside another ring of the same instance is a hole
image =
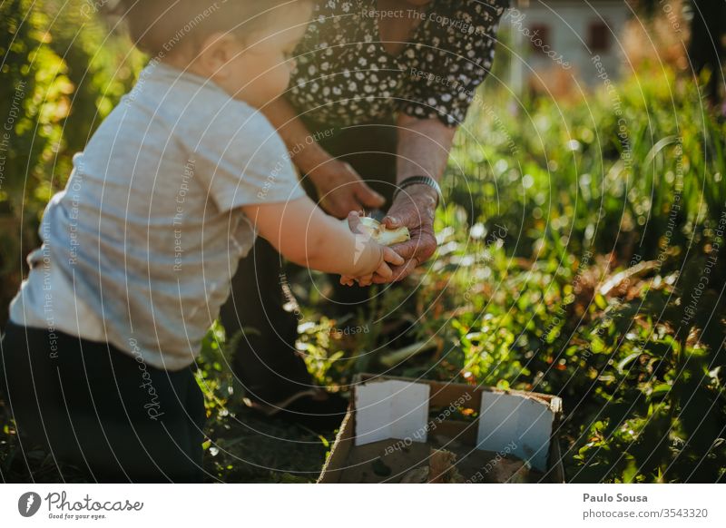
[[[106,343],[12,322],[1,348],[0,386],[24,451],[41,445],[91,482],[202,481],[205,410],[191,368],[160,370]]]

